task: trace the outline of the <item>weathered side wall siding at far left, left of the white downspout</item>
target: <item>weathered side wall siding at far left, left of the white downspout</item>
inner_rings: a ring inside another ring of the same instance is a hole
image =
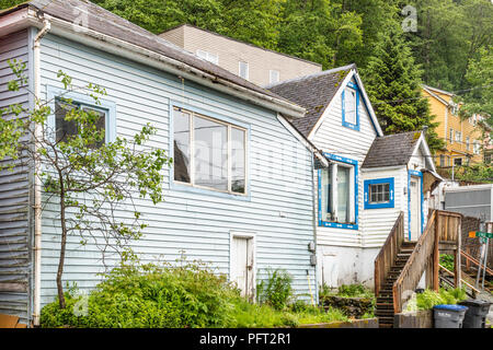
[[[30,105],[26,89],[8,90],[9,81],[15,79],[8,60],[25,62],[28,74],[28,37],[30,32],[25,30],[0,38],[0,108],[12,104]],[[22,166],[0,172],[0,314],[20,316],[22,323],[27,323],[30,317],[31,299],[30,174],[30,170]]]

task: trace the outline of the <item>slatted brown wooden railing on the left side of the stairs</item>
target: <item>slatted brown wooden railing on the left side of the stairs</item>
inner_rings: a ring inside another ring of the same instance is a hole
[[[401,211],[380,253],[375,258],[375,295],[378,296],[381,285],[389,275],[390,267],[395,260],[404,242],[404,213]]]

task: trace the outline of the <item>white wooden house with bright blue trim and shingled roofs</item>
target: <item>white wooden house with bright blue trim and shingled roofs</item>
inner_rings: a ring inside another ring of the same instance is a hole
[[[318,283],[372,285],[399,212],[410,240],[426,222],[423,173],[435,167],[422,132],[383,136],[355,65],[267,89],[307,108],[291,122],[331,162],[314,172]]]

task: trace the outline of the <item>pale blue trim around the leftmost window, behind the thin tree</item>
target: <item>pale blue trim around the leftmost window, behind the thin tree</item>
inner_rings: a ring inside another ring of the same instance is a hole
[[[51,114],[47,118],[48,128],[51,130],[55,130],[55,100],[57,97],[64,97],[72,100],[77,104],[81,104],[91,108],[94,108],[96,110],[104,112],[106,114],[106,126],[105,126],[105,138],[106,142],[114,142],[116,140],[116,104],[112,101],[107,100],[99,100],[101,104],[95,104],[94,98],[91,96],[73,92],[73,91],[67,91],[64,89],[55,88],[47,85],[47,92],[48,96],[48,106],[51,108]],[[51,138],[55,137],[55,135],[50,136]]]

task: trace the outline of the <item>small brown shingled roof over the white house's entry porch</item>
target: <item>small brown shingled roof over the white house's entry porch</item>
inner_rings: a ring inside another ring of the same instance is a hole
[[[421,139],[422,131],[378,137],[368,150],[362,167],[406,165]]]

